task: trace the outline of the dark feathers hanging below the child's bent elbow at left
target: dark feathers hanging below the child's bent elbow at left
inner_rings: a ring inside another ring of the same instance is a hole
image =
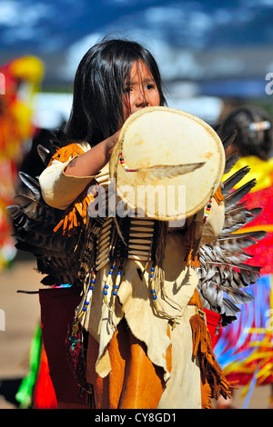
[[[16,204],[7,207],[13,222],[15,247],[35,255],[37,271],[46,274],[41,283],[80,285],[77,273],[82,248],[78,236],[68,238],[54,233],[64,211],[45,204],[36,178],[25,173],[19,176],[22,184],[15,196]]]

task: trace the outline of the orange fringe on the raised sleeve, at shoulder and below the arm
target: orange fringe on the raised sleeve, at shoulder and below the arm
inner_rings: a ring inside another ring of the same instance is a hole
[[[84,150],[78,144],[69,144],[59,148],[50,160],[50,164],[54,160],[65,163],[69,158],[74,159],[76,156],[84,154]],[[71,236],[76,232],[76,228],[86,225],[88,204],[96,197],[96,190],[92,186],[93,193],[87,194],[87,189],[84,190],[76,200],[67,207],[64,218],[56,225],[54,232],[56,233],[63,226],[63,235]]]

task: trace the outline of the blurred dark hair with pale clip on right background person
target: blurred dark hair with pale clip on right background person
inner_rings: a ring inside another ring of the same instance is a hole
[[[234,145],[242,156],[255,155],[268,160],[273,150],[273,121],[262,108],[249,105],[232,111],[224,121],[221,134],[236,130]]]

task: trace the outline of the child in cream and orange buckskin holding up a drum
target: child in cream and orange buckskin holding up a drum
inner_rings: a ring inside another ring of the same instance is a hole
[[[107,185],[107,164],[126,118],[146,106],[165,104],[157,64],[147,49],[119,39],[93,46],[76,72],[64,146],[39,179],[45,202],[71,218],[75,201],[86,200],[86,187],[94,179]],[[203,218],[204,209],[196,218],[197,239]],[[204,233],[207,242],[220,233],[223,221],[223,204],[213,199]],[[199,315],[197,273],[184,261],[186,235],[186,230],[165,234],[166,296],[175,301],[166,303],[158,295],[166,316],[152,308],[147,289],[150,261],[146,268],[144,261],[126,259],[114,288],[117,268],[106,260],[91,281],[96,284],[82,324],[88,332],[86,381],[94,387],[96,408],[207,408],[211,397],[227,397],[228,384],[210,353],[207,327]],[[113,282],[107,282],[108,273]],[[111,290],[115,303],[105,303],[104,294]],[[201,342],[206,352],[196,350],[193,357],[193,343],[199,349]]]

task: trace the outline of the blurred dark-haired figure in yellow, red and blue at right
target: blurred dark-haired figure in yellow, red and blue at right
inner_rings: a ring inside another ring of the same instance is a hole
[[[227,155],[237,151],[241,158],[232,171],[249,166],[250,172],[240,184],[256,178],[257,185],[245,204],[263,209],[244,231],[265,230],[268,235],[247,250],[249,255],[255,255],[255,264],[262,267],[261,278],[248,291],[254,302],[242,304],[238,320],[221,330],[215,353],[228,380],[243,386],[244,407],[248,408],[253,388],[273,382],[273,121],[264,109],[247,105],[227,115],[221,134],[230,134],[234,129],[237,135],[227,148]],[[251,258],[247,263],[252,263]],[[273,392],[268,397],[268,405],[273,408]],[[221,399],[217,403],[218,408],[234,405]]]

